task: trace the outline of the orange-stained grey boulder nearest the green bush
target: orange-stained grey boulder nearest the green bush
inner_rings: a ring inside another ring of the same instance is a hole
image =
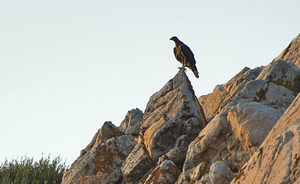
[[[64,173],[62,183],[116,183],[122,178],[121,165],[136,144],[105,122],[82,154]]]

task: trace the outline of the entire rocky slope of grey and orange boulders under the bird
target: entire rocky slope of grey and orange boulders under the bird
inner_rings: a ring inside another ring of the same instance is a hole
[[[105,122],[62,183],[300,183],[299,48],[198,99],[179,71],[144,113]]]

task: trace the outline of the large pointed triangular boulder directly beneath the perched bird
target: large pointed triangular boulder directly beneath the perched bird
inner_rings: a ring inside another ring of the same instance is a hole
[[[150,97],[140,129],[151,158],[157,161],[175,147],[182,135],[188,135],[190,142],[205,125],[202,108],[188,77],[181,70]],[[177,162],[183,163],[183,160]]]

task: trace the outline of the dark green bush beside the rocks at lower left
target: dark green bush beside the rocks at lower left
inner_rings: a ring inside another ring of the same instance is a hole
[[[0,184],[58,184],[61,183],[66,163],[61,162],[60,156],[50,160],[41,157],[39,161],[27,156],[20,160],[13,159],[0,165]]]

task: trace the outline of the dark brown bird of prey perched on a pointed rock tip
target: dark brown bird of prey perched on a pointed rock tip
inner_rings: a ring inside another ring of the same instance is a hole
[[[175,47],[173,49],[175,58],[182,64],[182,68],[188,67],[192,70],[196,78],[199,78],[199,73],[196,67],[196,60],[194,58],[194,54],[192,50],[180,41],[176,36],[170,38],[175,42]]]

